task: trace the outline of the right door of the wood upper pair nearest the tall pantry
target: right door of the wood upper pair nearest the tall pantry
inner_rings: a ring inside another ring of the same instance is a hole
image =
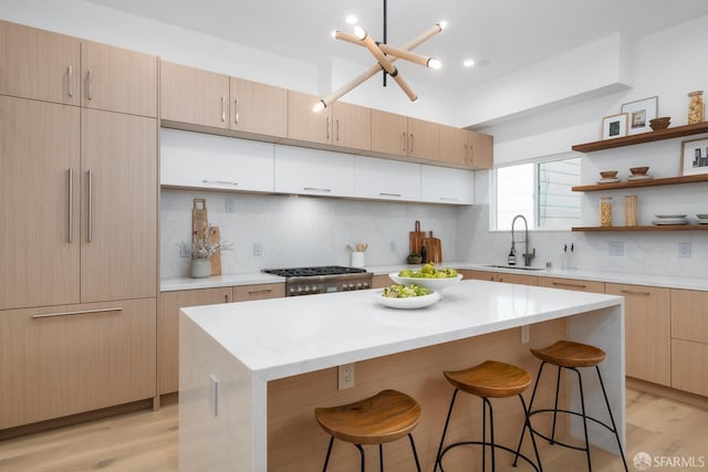
[[[230,78],[229,128],[284,138],[288,136],[288,91],[244,78]]]

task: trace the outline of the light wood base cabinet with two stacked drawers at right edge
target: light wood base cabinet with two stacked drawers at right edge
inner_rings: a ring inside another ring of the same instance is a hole
[[[671,290],[671,387],[708,396],[708,292]]]

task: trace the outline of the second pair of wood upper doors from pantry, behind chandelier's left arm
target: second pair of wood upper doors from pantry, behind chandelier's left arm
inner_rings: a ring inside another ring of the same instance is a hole
[[[335,102],[313,112],[316,95],[288,91],[288,138],[350,149],[371,149],[371,109]]]

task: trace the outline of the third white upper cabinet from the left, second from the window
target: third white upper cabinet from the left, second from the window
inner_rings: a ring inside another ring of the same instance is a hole
[[[419,201],[420,165],[356,156],[355,187],[361,198]]]

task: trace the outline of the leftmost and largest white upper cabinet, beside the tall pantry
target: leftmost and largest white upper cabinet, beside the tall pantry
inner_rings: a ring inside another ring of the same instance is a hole
[[[163,128],[160,185],[272,192],[273,145]]]

